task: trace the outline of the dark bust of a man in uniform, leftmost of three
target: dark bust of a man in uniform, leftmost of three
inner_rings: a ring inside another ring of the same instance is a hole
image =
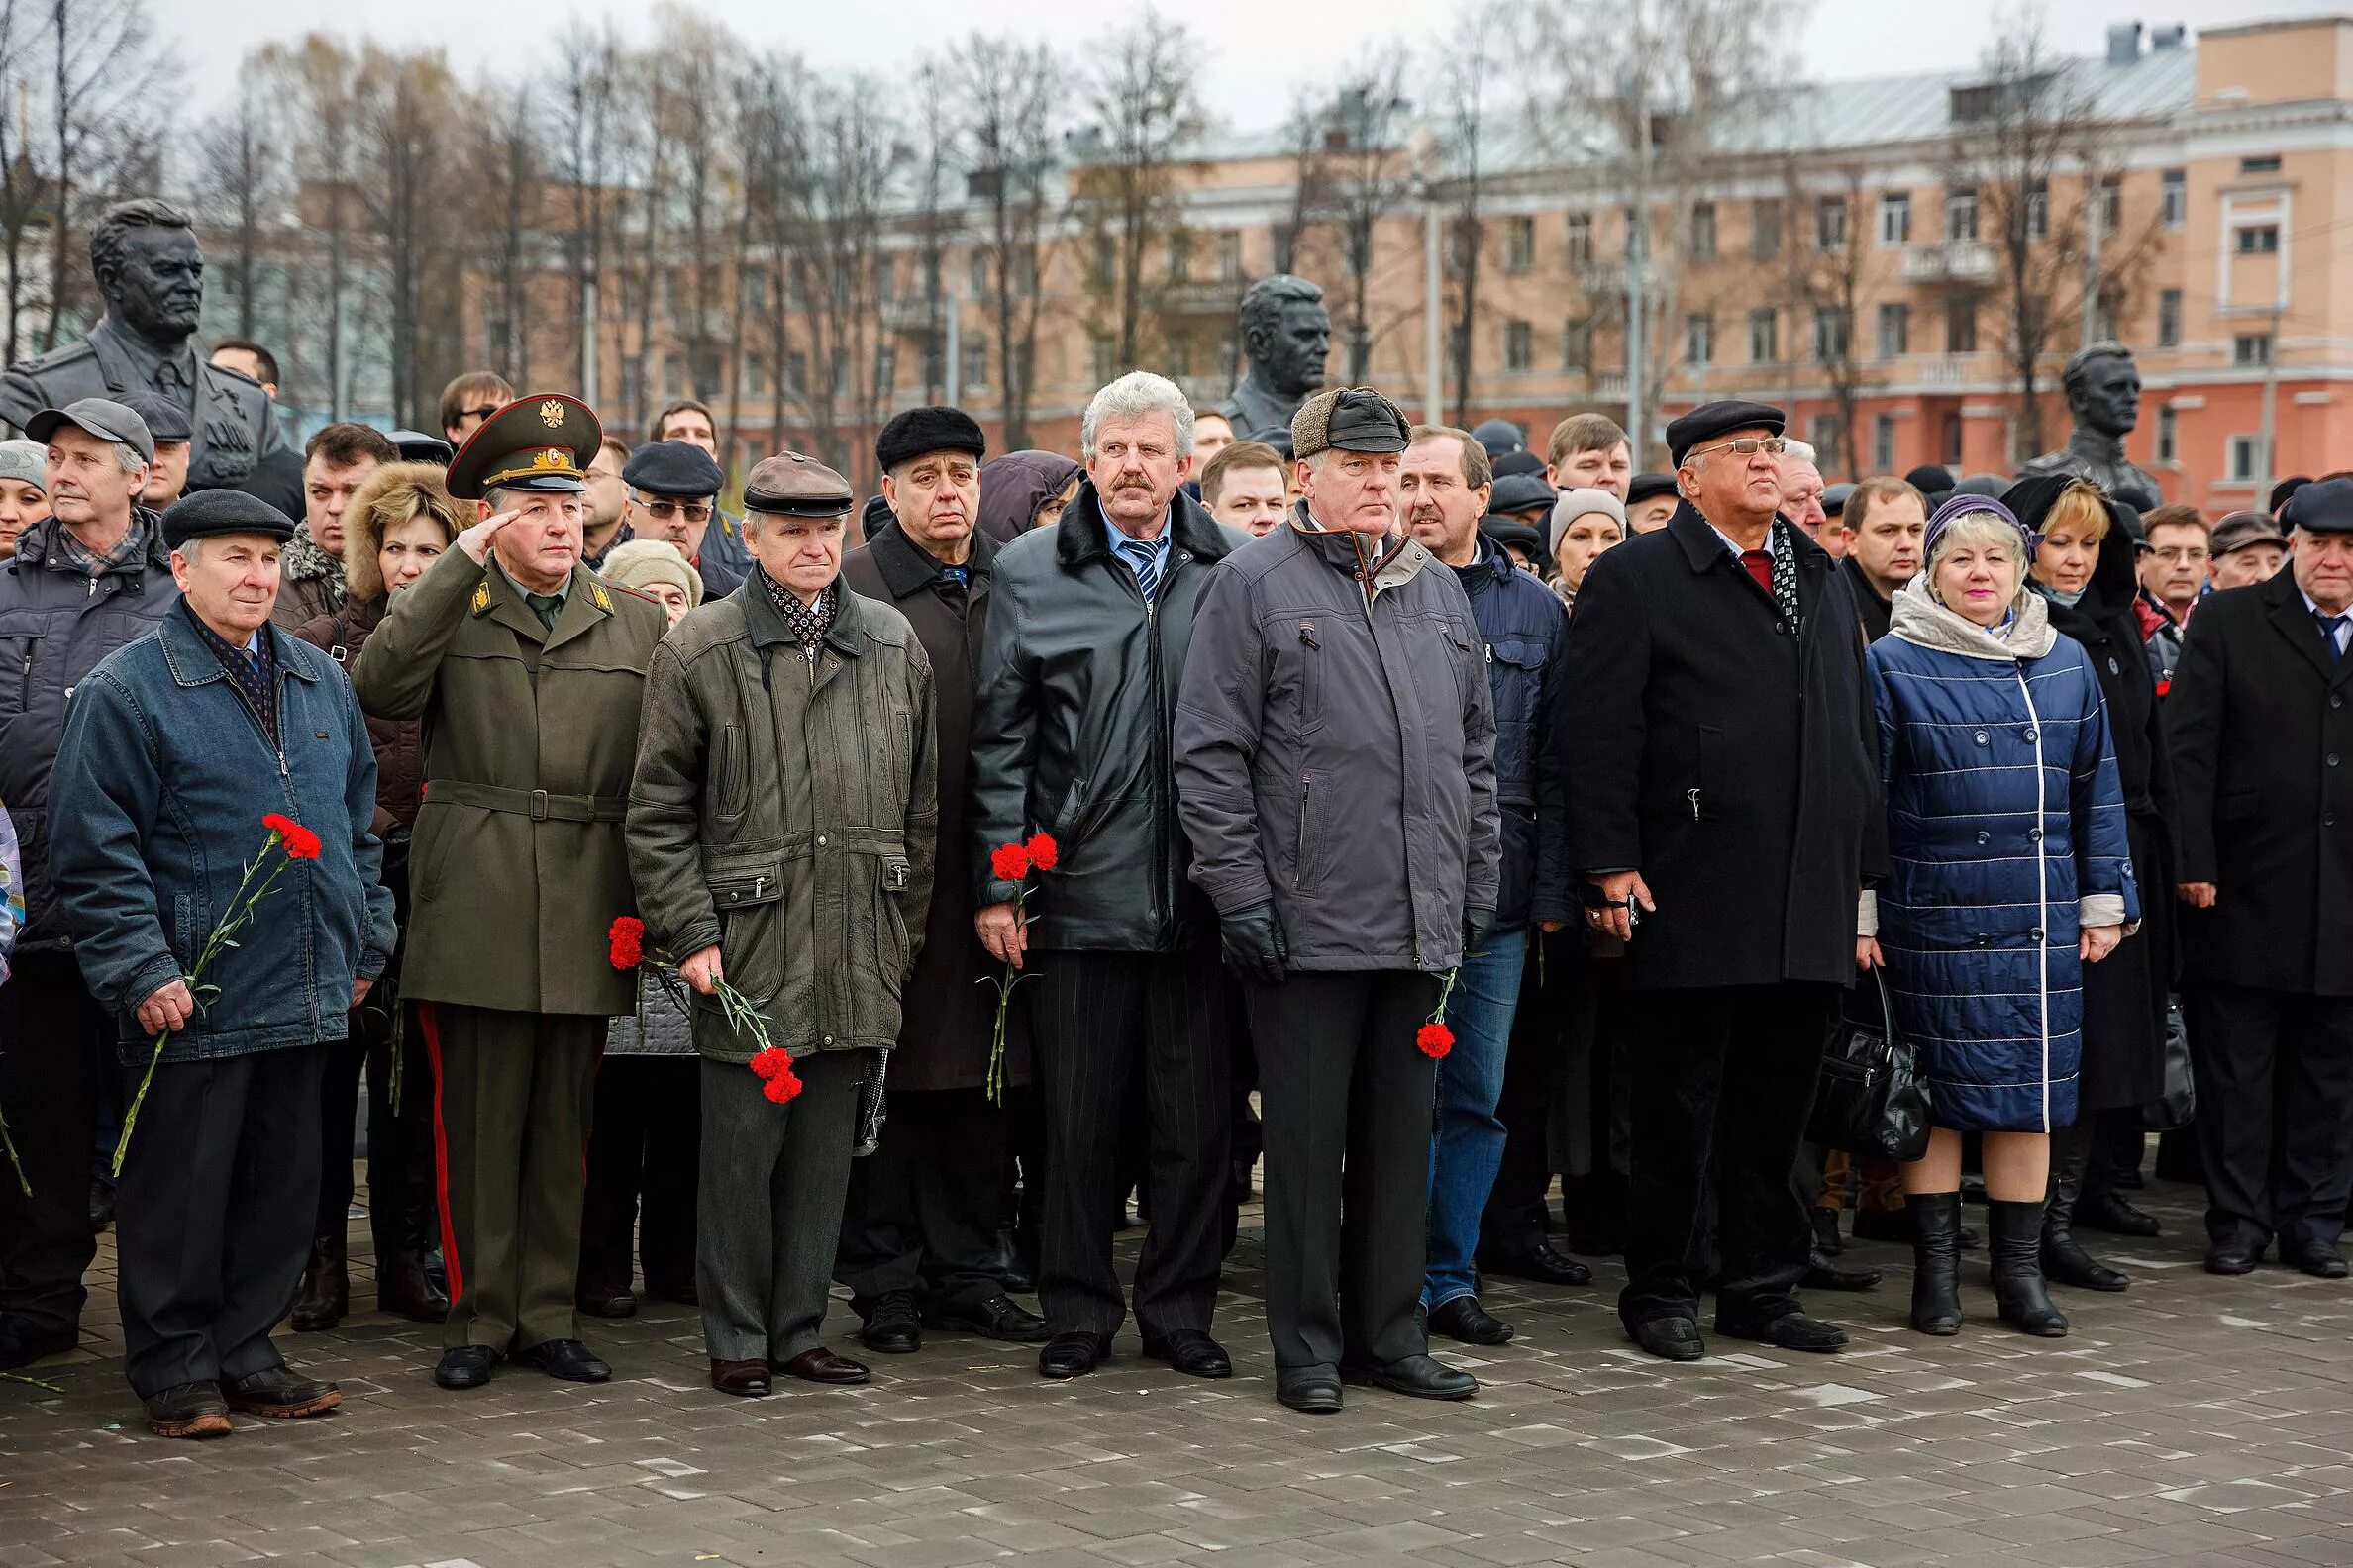
[[[205,306],[205,252],[188,214],[158,197],[115,202],[89,230],[89,270],[106,315],[80,343],[12,364],[0,418],[24,428],[78,397],[160,393],[188,409],[188,489],[245,480],[278,440],[261,383],[207,364],[188,343]]]

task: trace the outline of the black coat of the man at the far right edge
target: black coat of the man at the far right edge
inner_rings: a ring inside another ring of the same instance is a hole
[[[2165,698],[2181,802],[2191,980],[2353,997],[2353,658],[2332,661],[2292,571],[2207,595]]]

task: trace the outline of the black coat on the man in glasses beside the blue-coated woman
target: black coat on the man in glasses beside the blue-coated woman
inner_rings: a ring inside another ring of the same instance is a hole
[[[1685,503],[1593,562],[1569,616],[1569,865],[1640,870],[1645,990],[1854,980],[1854,905],[1887,870],[1854,595],[1791,529],[1800,635]]]

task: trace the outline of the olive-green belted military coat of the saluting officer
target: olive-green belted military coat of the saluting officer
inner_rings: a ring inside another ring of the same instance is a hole
[[[659,604],[574,567],[544,630],[515,583],[464,550],[393,595],[351,684],[367,712],[424,729],[405,997],[631,1011],[607,931],[638,903],[621,818],[666,628]]]

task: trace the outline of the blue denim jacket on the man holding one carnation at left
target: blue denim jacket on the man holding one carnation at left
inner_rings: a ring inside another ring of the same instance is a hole
[[[393,950],[379,882],[376,752],[332,658],[275,625],[278,736],[245,708],[186,602],[108,654],[66,708],[56,755],[52,870],[89,994],[115,1013],[125,1060],[134,1018],[186,976],[235,903],[238,879],[282,811],[318,835],[254,907],[202,985],[219,987],[165,1046],[167,1063],[344,1039],[351,985]],[[282,853],[282,851],[271,851]],[[268,875],[264,867],[261,875]]]

